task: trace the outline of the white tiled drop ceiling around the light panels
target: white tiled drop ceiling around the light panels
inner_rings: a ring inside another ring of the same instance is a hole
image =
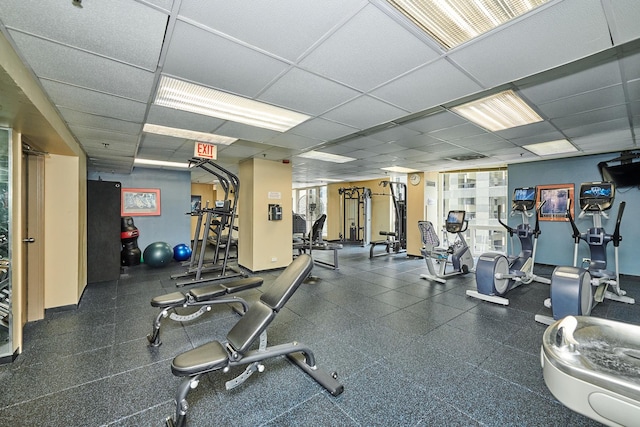
[[[192,156],[193,141],[143,134],[146,122],[239,138],[218,148],[223,167],[287,159],[298,183],[375,179],[386,166],[432,171],[541,160],[522,146],[562,138],[578,155],[637,148],[637,0],[551,0],[450,51],[384,0],[82,6],[3,0],[0,30],[86,151],[90,171],[129,173],[135,157]],[[279,133],[159,107],[152,99],[161,75],[311,118]],[[489,132],[449,110],[505,88],[544,122]],[[11,127],[19,102],[10,101],[20,90],[4,75],[0,94],[0,125]],[[40,136],[30,137],[37,145]],[[297,157],[311,149],[357,160]],[[193,181],[209,179],[193,172]]]

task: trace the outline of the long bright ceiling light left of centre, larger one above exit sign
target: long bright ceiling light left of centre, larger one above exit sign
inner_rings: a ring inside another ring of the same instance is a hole
[[[223,120],[286,132],[309,116],[162,76],[154,104]]]

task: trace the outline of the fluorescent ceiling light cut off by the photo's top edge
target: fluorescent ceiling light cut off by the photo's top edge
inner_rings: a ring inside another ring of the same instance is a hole
[[[445,49],[452,49],[548,0],[387,0]]]

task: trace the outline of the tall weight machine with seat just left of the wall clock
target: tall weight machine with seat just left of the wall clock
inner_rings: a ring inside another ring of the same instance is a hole
[[[380,181],[382,187],[389,187],[391,200],[393,201],[394,231],[381,231],[381,236],[386,236],[385,240],[371,242],[369,248],[369,258],[380,255],[405,252],[407,249],[407,185],[402,182]],[[387,194],[383,194],[387,195]],[[374,255],[376,246],[384,245],[385,253]]]

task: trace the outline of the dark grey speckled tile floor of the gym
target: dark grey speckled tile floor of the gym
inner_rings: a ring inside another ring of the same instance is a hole
[[[322,252],[315,254],[322,257]],[[189,394],[188,425],[236,426],[589,426],[559,404],[539,362],[548,286],[513,290],[508,307],[465,295],[472,274],[446,284],[420,279],[424,261],[403,254],[369,259],[345,247],[337,271],[316,266],[268,331],[270,344],[301,341],[337,371],[332,397],[286,358],[226,391],[213,373]],[[78,309],[48,313],[25,327],[24,352],[0,366],[0,420],[11,426],[160,426],[174,411],[177,354],[224,335],[228,306],[180,324],[165,320],[163,344],[147,346],[152,297],[174,292],[183,270],[129,268],[116,282],[90,284]],[[549,276],[550,267],[539,273]],[[278,272],[265,272],[263,288]],[[623,288],[640,297],[638,278]],[[243,296],[254,301],[260,290]],[[594,315],[640,323],[640,306],[605,302]]]

